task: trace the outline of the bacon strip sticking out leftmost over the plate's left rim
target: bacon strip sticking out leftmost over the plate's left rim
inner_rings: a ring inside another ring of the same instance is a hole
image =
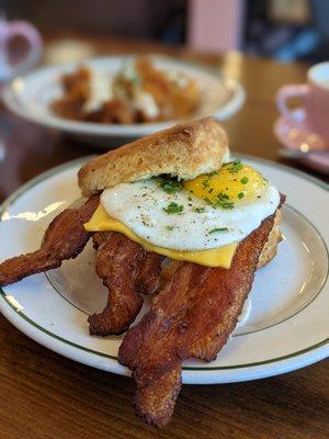
[[[65,259],[76,258],[84,248],[90,234],[87,223],[100,203],[98,195],[79,209],[67,209],[53,219],[38,250],[0,264],[0,285],[8,285],[27,275],[57,268]]]

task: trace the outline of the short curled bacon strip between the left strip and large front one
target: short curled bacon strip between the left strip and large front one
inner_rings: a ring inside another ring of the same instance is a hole
[[[136,243],[120,233],[95,234],[97,273],[109,289],[107,304],[99,314],[89,316],[91,335],[124,333],[139,313],[143,299],[138,293],[152,293],[160,279],[162,258],[146,254]]]

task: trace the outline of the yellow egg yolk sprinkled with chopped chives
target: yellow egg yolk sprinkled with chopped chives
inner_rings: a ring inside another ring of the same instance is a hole
[[[231,161],[216,172],[198,176],[183,184],[194,196],[209,204],[224,203],[229,209],[232,203],[252,202],[262,196],[268,182],[250,166]]]

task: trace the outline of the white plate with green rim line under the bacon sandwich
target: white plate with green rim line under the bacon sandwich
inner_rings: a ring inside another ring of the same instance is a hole
[[[224,383],[275,375],[329,353],[328,188],[272,162],[243,158],[287,195],[284,240],[276,258],[259,270],[250,314],[211,363],[186,361],[185,383]],[[49,221],[80,196],[82,161],[55,168],[16,191],[2,206],[0,260],[36,249]],[[129,374],[116,360],[120,337],[88,334],[87,314],[105,304],[89,246],[76,260],[47,274],[32,275],[0,292],[0,311],[41,345],[72,360]]]

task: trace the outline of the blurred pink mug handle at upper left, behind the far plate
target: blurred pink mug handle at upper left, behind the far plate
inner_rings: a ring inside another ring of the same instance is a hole
[[[29,44],[29,50],[14,64],[10,63],[10,41],[21,37]],[[7,81],[32,68],[42,54],[42,38],[37,30],[24,21],[5,21],[0,16],[0,82]]]

